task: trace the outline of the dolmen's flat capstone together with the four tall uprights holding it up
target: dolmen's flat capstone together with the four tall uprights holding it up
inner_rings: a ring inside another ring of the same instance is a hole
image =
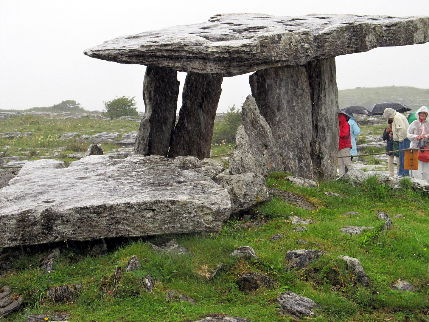
[[[136,154],[209,157],[223,77],[255,72],[249,82],[258,110],[248,118],[256,120],[260,113],[265,122],[256,128],[266,137],[254,143],[267,147],[262,159],[259,152],[249,158],[268,165],[261,172],[329,179],[335,177],[338,149],[335,56],[428,41],[429,17],[423,16],[236,13],[121,36],[84,53],[147,66]],[[178,71],[187,76],[175,125]],[[249,131],[237,135],[243,138]],[[254,167],[251,160],[242,164]],[[253,172],[248,167],[232,167],[232,172]]]

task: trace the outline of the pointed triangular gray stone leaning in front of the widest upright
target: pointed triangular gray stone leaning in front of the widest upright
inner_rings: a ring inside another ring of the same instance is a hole
[[[228,160],[230,173],[257,173],[267,176],[282,171],[272,131],[260,114],[255,99],[248,95],[242,106],[242,122],[236,133],[236,146]]]

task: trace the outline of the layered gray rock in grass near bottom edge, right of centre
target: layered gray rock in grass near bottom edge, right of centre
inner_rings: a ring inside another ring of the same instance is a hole
[[[287,314],[295,318],[312,316],[314,314],[313,308],[317,307],[316,302],[292,292],[280,294],[277,301]]]

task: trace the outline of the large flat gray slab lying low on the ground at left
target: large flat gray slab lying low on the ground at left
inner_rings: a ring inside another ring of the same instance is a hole
[[[223,170],[191,156],[27,163],[0,190],[0,247],[218,231],[231,213],[212,180]]]

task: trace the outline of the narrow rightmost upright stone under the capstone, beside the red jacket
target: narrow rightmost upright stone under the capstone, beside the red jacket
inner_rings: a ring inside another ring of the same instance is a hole
[[[335,57],[306,65],[310,84],[313,137],[311,160],[314,177],[335,178],[338,163],[338,88]]]

